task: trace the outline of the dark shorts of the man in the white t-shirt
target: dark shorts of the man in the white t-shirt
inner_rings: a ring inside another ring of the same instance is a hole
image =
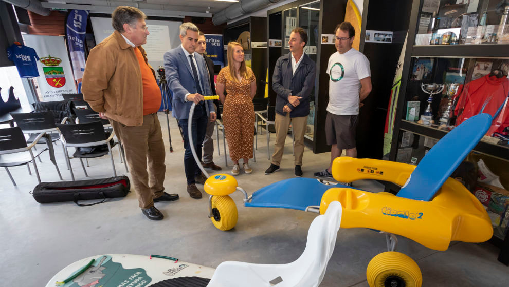
[[[325,119],[325,137],[329,146],[338,145],[338,149],[355,148],[355,129],[358,115],[335,115],[327,112]]]

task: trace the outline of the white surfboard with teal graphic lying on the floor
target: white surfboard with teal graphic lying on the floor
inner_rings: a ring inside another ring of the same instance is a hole
[[[49,280],[46,287],[55,287],[95,261],[64,287],[143,287],[143,286],[207,286],[214,269],[201,265],[143,255],[106,254],[90,256],[67,265]]]

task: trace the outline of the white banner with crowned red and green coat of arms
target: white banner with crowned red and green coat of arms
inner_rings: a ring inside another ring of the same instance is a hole
[[[37,81],[42,101],[63,100],[62,94],[76,93],[64,37],[23,35],[25,44],[39,56]],[[44,78],[42,77],[44,76]]]

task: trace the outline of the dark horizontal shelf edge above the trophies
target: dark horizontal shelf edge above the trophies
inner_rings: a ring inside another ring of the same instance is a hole
[[[412,57],[509,58],[509,45],[415,45]]]

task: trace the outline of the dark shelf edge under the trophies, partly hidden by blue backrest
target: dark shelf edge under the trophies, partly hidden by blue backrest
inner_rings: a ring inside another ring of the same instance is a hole
[[[448,133],[445,130],[424,126],[409,120],[402,120],[401,126],[399,126],[399,128],[401,130],[428,136],[434,139],[441,139]],[[479,144],[477,144],[477,146],[474,148],[474,151],[509,161],[509,146],[493,145],[484,141],[480,141]]]

